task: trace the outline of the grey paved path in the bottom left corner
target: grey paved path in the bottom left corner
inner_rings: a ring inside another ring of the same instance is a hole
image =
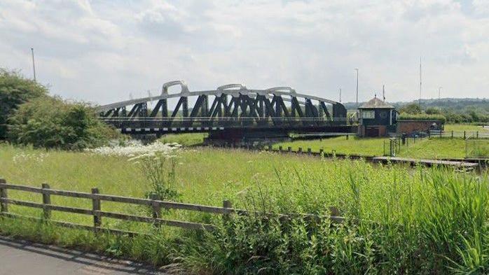
[[[126,275],[158,274],[127,260],[0,236],[0,275]]]

